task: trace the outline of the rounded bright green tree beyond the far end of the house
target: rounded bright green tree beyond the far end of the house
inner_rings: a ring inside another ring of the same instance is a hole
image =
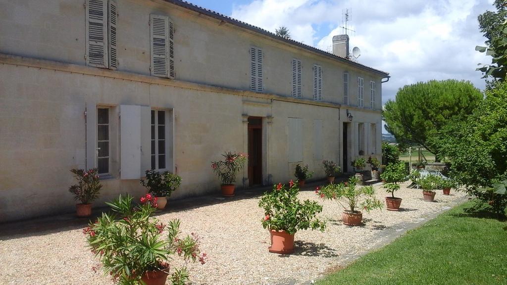
[[[406,85],[388,100],[382,117],[386,130],[402,144],[417,144],[435,154],[434,137],[449,120],[463,121],[472,114],[483,95],[469,81],[431,80]]]

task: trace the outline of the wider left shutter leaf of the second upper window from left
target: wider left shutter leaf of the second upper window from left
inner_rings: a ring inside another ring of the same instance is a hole
[[[151,74],[167,77],[169,31],[167,16],[150,15]]]

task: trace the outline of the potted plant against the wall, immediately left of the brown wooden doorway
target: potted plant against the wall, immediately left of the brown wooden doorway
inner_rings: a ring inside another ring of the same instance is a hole
[[[243,168],[247,155],[226,152],[222,156],[224,160],[211,162],[211,168],[222,181],[222,195],[232,197],[234,196],[236,173]]]

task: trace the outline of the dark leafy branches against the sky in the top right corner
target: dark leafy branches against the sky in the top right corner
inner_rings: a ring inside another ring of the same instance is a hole
[[[486,41],[487,47],[476,47],[477,51],[486,52],[487,55],[493,57],[491,64],[484,64],[476,69],[483,73],[483,78],[492,78],[492,82],[503,80],[507,74],[507,25],[505,24],[507,4],[504,0],[495,0],[494,6],[496,12],[486,11],[477,18],[480,31],[488,40]],[[491,82],[489,83],[491,84]]]

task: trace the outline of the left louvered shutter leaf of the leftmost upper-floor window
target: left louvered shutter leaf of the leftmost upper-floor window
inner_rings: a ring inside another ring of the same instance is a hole
[[[86,3],[86,63],[107,68],[107,0]]]

